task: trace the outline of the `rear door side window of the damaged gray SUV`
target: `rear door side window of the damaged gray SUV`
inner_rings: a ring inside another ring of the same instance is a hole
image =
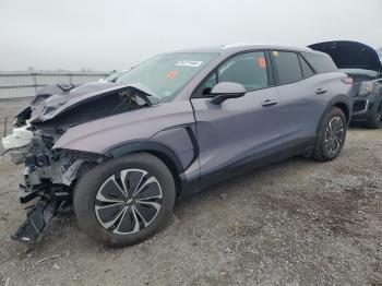
[[[272,56],[277,69],[278,84],[302,80],[302,71],[296,52],[274,50]]]

